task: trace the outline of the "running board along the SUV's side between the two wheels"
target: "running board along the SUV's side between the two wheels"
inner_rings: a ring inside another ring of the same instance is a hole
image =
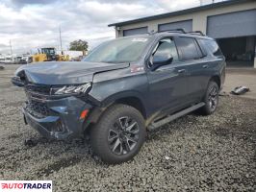
[[[204,105],[205,105],[205,103],[201,102],[199,104],[196,104],[196,105],[192,106],[191,108],[186,108],[186,109],[181,110],[181,111],[179,111],[177,113],[174,113],[172,115],[168,115],[168,116],[166,116],[165,119],[162,119],[162,120],[159,120],[157,122],[151,123],[147,127],[147,130],[148,131],[153,131],[153,130],[165,125],[166,123],[169,123],[169,122],[171,122],[171,121],[173,121],[173,120],[175,120],[175,119],[177,119],[177,118],[179,118],[179,117],[181,117],[185,114],[188,114],[188,113],[192,112],[193,110],[196,110],[197,108],[202,108]]]

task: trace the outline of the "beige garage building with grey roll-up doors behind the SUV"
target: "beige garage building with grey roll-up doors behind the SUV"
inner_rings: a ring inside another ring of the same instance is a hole
[[[230,66],[256,68],[256,0],[229,0],[110,24],[115,36],[183,28],[218,40]]]

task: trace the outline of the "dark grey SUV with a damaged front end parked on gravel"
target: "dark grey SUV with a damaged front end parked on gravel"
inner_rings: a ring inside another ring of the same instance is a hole
[[[24,65],[12,82],[27,94],[25,123],[47,138],[90,135],[94,153],[120,163],[139,153],[146,131],[213,113],[225,65],[213,38],[169,31],[110,40],[79,62]]]

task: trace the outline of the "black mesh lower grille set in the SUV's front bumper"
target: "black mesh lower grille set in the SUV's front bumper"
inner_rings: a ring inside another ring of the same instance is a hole
[[[45,103],[41,103],[34,100],[30,100],[27,102],[26,109],[30,114],[38,118],[48,116],[50,112],[50,109],[46,106]]]

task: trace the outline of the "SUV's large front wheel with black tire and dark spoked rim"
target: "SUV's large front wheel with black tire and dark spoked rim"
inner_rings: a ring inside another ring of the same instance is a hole
[[[145,135],[141,112],[118,104],[108,108],[91,129],[90,145],[92,151],[104,162],[116,164],[136,156]]]

